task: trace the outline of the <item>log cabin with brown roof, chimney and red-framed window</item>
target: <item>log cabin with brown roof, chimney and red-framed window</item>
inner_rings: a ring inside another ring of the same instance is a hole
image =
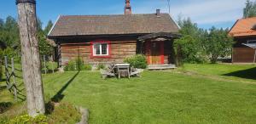
[[[180,37],[169,14],[61,15],[49,31],[57,44],[59,65],[82,58],[92,65],[123,63],[135,54],[145,54],[148,65],[173,64],[173,40]]]

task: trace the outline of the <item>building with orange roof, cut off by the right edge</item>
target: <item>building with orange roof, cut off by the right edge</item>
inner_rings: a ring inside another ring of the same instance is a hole
[[[255,63],[256,60],[256,17],[237,20],[230,29],[236,41],[233,46],[233,63]]]

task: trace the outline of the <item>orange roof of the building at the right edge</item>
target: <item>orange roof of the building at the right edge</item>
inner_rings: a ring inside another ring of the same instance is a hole
[[[253,27],[256,25],[256,17],[237,20],[236,24],[230,30],[232,37],[249,37],[256,36],[256,30]]]

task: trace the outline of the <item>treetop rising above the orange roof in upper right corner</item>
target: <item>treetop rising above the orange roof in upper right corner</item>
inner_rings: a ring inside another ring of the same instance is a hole
[[[243,18],[255,17],[256,16],[256,1],[252,2],[247,0],[246,7],[243,8]]]

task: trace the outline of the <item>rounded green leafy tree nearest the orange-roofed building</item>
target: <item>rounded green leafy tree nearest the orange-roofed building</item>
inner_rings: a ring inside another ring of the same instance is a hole
[[[219,57],[225,57],[231,54],[233,39],[228,36],[228,29],[210,29],[207,40],[204,42],[204,48],[211,60],[211,63],[216,63]]]

